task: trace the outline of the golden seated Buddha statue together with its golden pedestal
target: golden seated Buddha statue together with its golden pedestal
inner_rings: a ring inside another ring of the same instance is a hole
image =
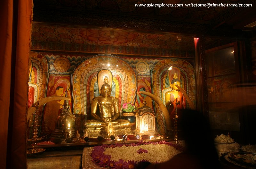
[[[123,134],[124,128],[131,131],[133,123],[128,120],[117,119],[120,116],[119,101],[116,97],[110,96],[111,87],[107,83],[108,77],[105,77],[104,84],[100,89],[100,96],[92,99],[91,117],[93,119],[85,120],[83,123],[89,137]],[[97,110],[100,112],[99,115],[97,115]],[[112,126],[111,129],[109,125]]]

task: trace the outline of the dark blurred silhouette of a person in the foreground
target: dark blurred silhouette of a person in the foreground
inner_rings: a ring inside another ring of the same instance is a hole
[[[186,143],[185,151],[164,163],[145,164],[144,168],[222,168],[214,146],[214,139],[211,137],[210,125],[202,113],[190,109],[180,110],[178,128],[181,130]]]

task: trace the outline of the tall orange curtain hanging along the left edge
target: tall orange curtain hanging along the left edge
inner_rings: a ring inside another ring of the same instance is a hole
[[[26,114],[33,0],[0,3],[0,168],[27,168]]]

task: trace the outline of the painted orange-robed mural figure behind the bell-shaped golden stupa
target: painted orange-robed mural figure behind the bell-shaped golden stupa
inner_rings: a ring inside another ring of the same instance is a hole
[[[52,96],[64,96],[64,88],[58,86]],[[46,132],[55,129],[56,118],[59,115],[59,110],[62,108],[64,100],[54,100],[45,104],[44,111],[44,128]]]

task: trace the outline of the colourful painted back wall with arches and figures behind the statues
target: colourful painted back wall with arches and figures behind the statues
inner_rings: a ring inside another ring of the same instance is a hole
[[[160,127],[158,128],[156,125],[156,130],[161,133],[165,132],[164,127],[161,128],[161,125],[164,126],[163,117],[160,115],[161,112],[151,98],[139,94],[139,91],[153,93],[162,100],[162,90],[169,87],[168,78],[166,79],[166,75],[164,74],[167,74],[167,69],[172,65],[180,68],[181,87],[187,91],[190,99],[195,104],[194,68],[188,62],[193,63],[193,60],[116,57],[105,54],[96,56],[93,54],[65,55],[46,52],[42,54],[47,58],[50,69],[47,96],[65,95],[65,90],[70,89],[68,90],[69,104],[72,106],[72,113],[76,116],[76,127],[78,130],[83,128],[82,123],[84,120],[90,118],[90,113],[88,113],[90,112],[90,106],[87,105],[90,105],[93,97],[99,95],[97,72],[101,69],[106,69],[105,63],[107,62],[115,66],[109,68],[112,72],[119,71],[119,73],[113,74],[111,94],[118,98],[122,95],[119,103],[120,108],[121,104],[125,102],[132,102],[137,107],[141,107],[143,106],[143,102],[146,101],[146,105],[151,107],[157,114],[156,123]],[[156,71],[156,69],[161,70]],[[161,72],[161,75],[159,72]],[[161,78],[158,79],[156,78],[157,76]],[[122,89],[125,86],[126,88]],[[116,90],[120,92],[113,92]],[[51,126],[54,122],[50,122],[49,119],[52,120],[60,114],[60,105],[62,102],[56,101],[45,105],[44,117],[41,118],[44,134],[51,133],[54,130],[54,126]],[[50,111],[52,113],[49,113]]]

